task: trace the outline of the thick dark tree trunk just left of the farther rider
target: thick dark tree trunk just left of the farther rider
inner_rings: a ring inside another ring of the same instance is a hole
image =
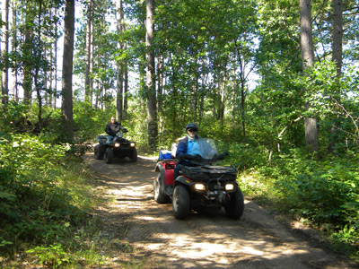
[[[73,57],[74,57],[74,0],[65,1],[64,57],[62,65],[62,117],[66,136],[74,140],[73,131]]]

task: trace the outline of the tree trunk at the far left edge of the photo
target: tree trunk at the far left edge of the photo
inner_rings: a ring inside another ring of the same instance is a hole
[[[9,0],[3,0],[2,6],[2,41],[1,41],[1,55],[4,63],[4,69],[1,75],[1,93],[2,103],[6,104],[9,100]]]

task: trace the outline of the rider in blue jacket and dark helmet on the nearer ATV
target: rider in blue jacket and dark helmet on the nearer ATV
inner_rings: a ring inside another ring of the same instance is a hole
[[[176,179],[180,175],[180,165],[195,166],[194,164],[186,160],[186,158],[188,158],[188,154],[191,154],[193,146],[200,138],[200,136],[197,135],[197,132],[198,126],[195,123],[190,123],[186,126],[187,136],[181,139],[179,145],[177,146],[176,158],[179,161],[177,162],[176,168],[173,172],[174,179]]]

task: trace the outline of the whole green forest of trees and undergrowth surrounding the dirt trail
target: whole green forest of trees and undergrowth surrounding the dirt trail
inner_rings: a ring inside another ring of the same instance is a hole
[[[197,123],[244,195],[359,258],[359,1],[0,3],[1,256],[98,259],[79,156],[115,116],[143,155]]]

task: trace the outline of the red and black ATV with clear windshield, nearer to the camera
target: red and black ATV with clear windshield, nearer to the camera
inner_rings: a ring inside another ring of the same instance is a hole
[[[171,156],[160,158],[155,167],[158,175],[153,180],[154,200],[158,204],[172,202],[176,219],[184,220],[192,209],[221,209],[227,217],[241,218],[244,210],[241,188],[236,182],[237,169],[215,166],[226,154],[218,154],[213,140],[200,138],[198,154],[185,154],[190,166],[180,165],[180,176],[173,178],[177,160]],[[160,154],[161,156],[162,154]]]

